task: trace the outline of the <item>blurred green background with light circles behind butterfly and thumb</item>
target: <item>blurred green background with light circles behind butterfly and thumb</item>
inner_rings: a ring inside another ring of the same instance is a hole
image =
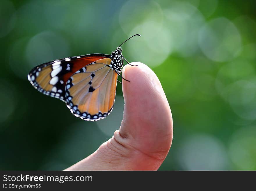
[[[49,60],[109,54],[140,33],[122,46],[123,55],[152,68],[173,114],[173,144],[159,170],[256,170],[255,7],[1,0],[0,169],[62,170],[108,140],[122,120],[120,84],[113,113],[85,122],[36,91],[27,73]]]

